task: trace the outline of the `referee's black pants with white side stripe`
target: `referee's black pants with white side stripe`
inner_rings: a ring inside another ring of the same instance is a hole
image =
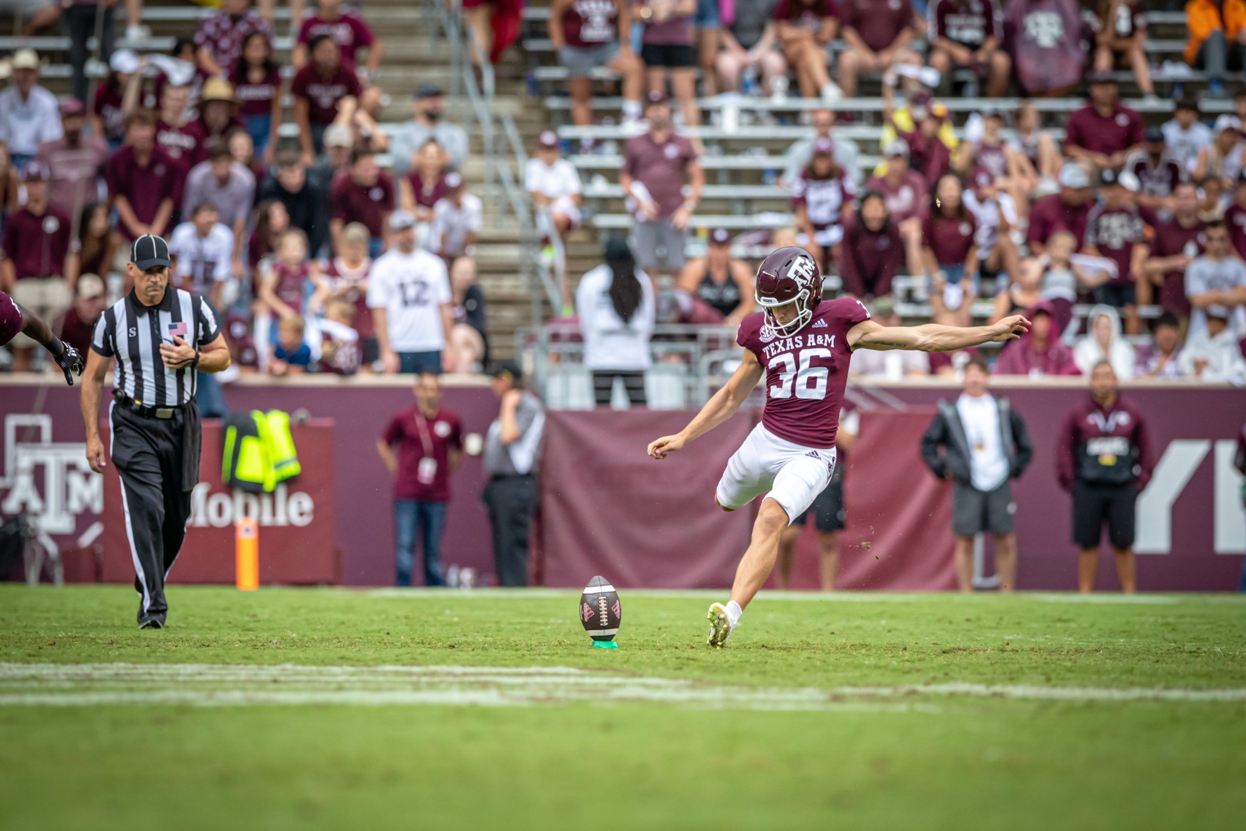
[[[193,405],[189,405],[193,406]],[[164,578],[186,537],[191,491],[183,490],[186,407],[172,419],[147,419],[113,404],[108,411],[110,455],[121,477],[126,538],[135,561],[135,587],[142,594],[138,619],[168,612]]]

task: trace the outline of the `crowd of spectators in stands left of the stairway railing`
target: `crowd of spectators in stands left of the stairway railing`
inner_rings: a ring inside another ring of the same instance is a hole
[[[95,9],[66,6],[75,49]],[[127,4],[127,20],[140,10]],[[472,255],[483,207],[456,172],[466,132],[442,120],[441,90],[421,83],[415,118],[391,142],[375,120],[384,50],[364,15],[339,0],[290,11],[289,66],[274,50],[272,2],[222,0],[167,55],[115,49],[108,14],[107,75],[92,90],[74,51],[61,100],[40,83],[40,56],[19,49],[0,90],[0,288],[86,349],[106,299],[130,289],[130,240],[158,234],[174,284],[226,321],[242,373],[396,371],[412,360],[402,330],[416,306],[431,310],[420,325],[430,333],[410,351],[435,353],[420,366],[480,371]],[[287,112],[297,136],[282,131]],[[37,358],[19,341],[4,363],[26,370]]]

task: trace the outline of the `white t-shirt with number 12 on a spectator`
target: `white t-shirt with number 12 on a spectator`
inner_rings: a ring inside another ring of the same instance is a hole
[[[450,275],[440,257],[419,248],[410,254],[391,248],[373,263],[368,275],[368,308],[385,309],[394,351],[444,349],[442,303],[450,303]]]

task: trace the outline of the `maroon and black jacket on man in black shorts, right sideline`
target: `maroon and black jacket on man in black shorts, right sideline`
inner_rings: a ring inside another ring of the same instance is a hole
[[[1073,490],[1074,481],[1090,485],[1138,485],[1146,487],[1155,468],[1146,421],[1138,407],[1116,397],[1110,407],[1087,396],[1073,407],[1060,427],[1055,451],[1060,486]]]

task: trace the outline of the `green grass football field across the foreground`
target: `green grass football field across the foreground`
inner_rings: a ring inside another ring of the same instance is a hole
[[[0,587],[0,829],[1229,829],[1237,597]]]

